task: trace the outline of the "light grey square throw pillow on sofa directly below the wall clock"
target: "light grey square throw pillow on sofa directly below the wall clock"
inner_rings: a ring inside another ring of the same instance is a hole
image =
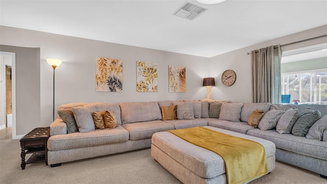
[[[218,120],[240,122],[242,103],[222,103]]]

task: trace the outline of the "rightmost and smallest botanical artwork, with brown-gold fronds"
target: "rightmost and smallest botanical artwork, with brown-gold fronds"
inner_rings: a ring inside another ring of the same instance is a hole
[[[169,65],[169,92],[186,92],[185,66]]]

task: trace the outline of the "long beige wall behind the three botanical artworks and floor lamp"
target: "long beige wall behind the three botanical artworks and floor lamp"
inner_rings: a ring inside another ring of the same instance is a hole
[[[55,109],[60,104],[72,102],[146,102],[206,97],[206,88],[202,87],[202,78],[207,77],[209,59],[205,57],[4,26],[0,29],[0,44],[40,48],[39,59],[17,63],[17,67],[20,68],[25,65],[28,65],[28,68],[32,67],[30,64],[39,67],[35,73],[31,74],[32,76],[25,76],[26,71],[16,72],[17,77],[38,83],[38,86],[17,84],[17,91],[22,90],[22,86],[26,87],[25,91],[35,90],[33,97],[35,95],[38,99],[35,101],[36,108],[24,108],[23,114],[20,111],[18,114],[18,110],[28,106],[29,102],[26,102],[26,99],[17,99],[18,135],[25,134],[32,128],[49,126],[52,123],[53,68],[46,63],[46,58],[57,58],[63,61],[56,68]],[[96,57],[123,60],[123,92],[96,92]],[[136,92],[136,61],[158,63],[158,92]],[[186,93],[168,92],[168,65],[186,66]],[[35,111],[38,111],[37,114]],[[24,122],[18,121],[18,118],[25,119],[31,117],[30,114],[36,117],[28,119],[32,124],[29,128],[21,126]]]

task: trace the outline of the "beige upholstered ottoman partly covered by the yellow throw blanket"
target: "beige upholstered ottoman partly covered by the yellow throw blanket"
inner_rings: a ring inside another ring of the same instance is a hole
[[[268,173],[275,168],[275,144],[237,132],[205,126],[218,132],[255,141],[264,146]],[[218,154],[195,146],[170,132],[152,136],[152,157],[183,183],[227,183],[225,164]]]

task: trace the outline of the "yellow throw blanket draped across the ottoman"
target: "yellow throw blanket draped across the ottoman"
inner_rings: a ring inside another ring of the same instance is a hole
[[[268,173],[266,151],[259,143],[204,127],[169,132],[220,155],[225,162],[229,184],[243,183]]]

